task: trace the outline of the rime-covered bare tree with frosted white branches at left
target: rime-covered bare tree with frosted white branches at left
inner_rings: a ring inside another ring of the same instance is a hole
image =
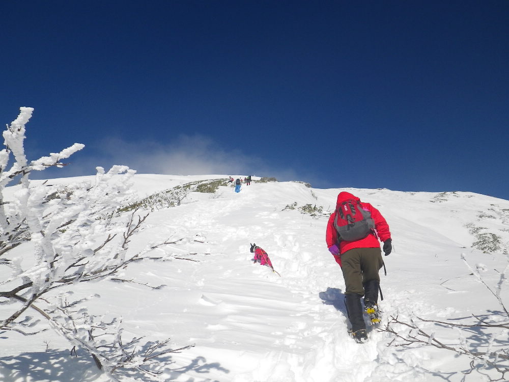
[[[60,153],[27,160],[23,141],[32,112],[31,107],[20,108],[3,133],[5,149],[0,151],[0,266],[10,268],[0,283],[0,304],[8,312],[0,316],[0,330],[29,335],[38,330],[36,317],[43,317],[74,347],[90,352],[112,380],[127,375],[151,379],[161,357],[181,349],[171,348],[168,340],[142,343],[135,337],[124,342],[120,318],[107,321],[90,315],[83,304],[87,298],[72,294],[78,283],[112,277],[154,248],[129,254],[129,241],[147,215],[116,213],[129,196],[135,171],[114,166],[105,172],[98,167],[94,181],[65,187],[34,184],[33,171],[64,166],[62,160],[84,145],[75,143]],[[6,186],[18,180],[14,194],[6,198]],[[27,241],[30,251],[17,249]]]

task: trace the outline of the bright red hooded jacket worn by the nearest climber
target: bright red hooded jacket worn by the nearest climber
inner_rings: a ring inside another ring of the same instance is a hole
[[[337,196],[336,209],[339,205],[341,205],[341,203],[349,199],[360,201],[359,198],[353,196],[350,193],[341,192],[340,195]],[[390,239],[389,225],[385,221],[380,211],[373,207],[370,203],[360,202],[360,205],[362,209],[371,212],[371,217],[375,222],[376,232],[371,233],[360,240],[355,241],[341,240],[339,243],[341,255],[354,248],[380,248],[380,242],[378,241],[378,238],[380,238],[380,240],[382,241]],[[327,242],[327,247],[331,247],[332,245],[337,244],[337,232],[336,228],[334,227],[335,216],[336,212],[334,211],[330,215],[329,222],[327,223],[327,232],[325,234],[325,241]],[[341,265],[340,256],[334,256],[334,259],[338,264]]]

